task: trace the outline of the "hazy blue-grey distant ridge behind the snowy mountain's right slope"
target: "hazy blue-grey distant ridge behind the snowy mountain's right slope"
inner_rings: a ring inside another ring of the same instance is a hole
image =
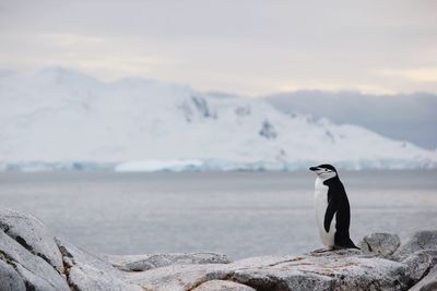
[[[264,97],[282,112],[304,112],[334,123],[356,124],[394,140],[437,148],[437,94],[362,94],[297,90]]]

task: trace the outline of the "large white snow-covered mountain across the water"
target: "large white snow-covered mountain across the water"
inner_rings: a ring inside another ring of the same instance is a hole
[[[47,69],[0,74],[3,169],[436,168],[437,153],[361,126],[286,114],[261,99]]]

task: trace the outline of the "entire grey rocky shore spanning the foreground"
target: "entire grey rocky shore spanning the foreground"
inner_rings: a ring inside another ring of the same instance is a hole
[[[362,250],[229,262],[214,253],[94,255],[36,218],[0,209],[0,290],[434,290],[437,230],[401,244],[374,233]]]

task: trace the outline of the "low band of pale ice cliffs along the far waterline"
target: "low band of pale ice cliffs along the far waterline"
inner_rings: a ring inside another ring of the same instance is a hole
[[[306,171],[318,161],[226,161],[202,159],[163,159],[128,162],[25,161],[1,162],[1,172],[294,172]],[[409,160],[363,160],[333,162],[347,171],[436,170],[437,165]]]

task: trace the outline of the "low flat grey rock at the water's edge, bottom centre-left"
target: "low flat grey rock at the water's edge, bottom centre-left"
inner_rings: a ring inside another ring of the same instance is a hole
[[[215,253],[169,253],[154,255],[130,255],[114,256],[103,255],[103,257],[120,270],[142,271],[166,267],[170,265],[192,265],[192,264],[227,264],[229,259],[226,255]]]

